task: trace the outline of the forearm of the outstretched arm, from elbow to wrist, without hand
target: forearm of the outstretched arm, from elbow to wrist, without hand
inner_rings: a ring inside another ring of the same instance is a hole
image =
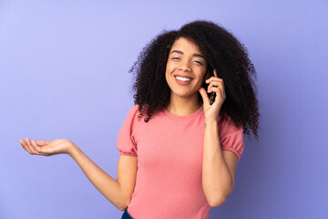
[[[104,172],[92,162],[87,155],[77,146],[69,153],[77,162],[82,171],[86,174],[87,179],[102,193],[110,203],[113,203],[119,210],[127,207],[127,198],[122,193],[122,188],[117,180]]]

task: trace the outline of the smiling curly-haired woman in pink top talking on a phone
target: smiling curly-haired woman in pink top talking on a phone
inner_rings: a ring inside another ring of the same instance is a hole
[[[135,106],[118,134],[117,180],[72,141],[20,143],[31,154],[70,155],[122,218],[208,218],[233,190],[242,134],[258,139],[247,49],[223,27],[195,21],[157,36],[130,72]]]

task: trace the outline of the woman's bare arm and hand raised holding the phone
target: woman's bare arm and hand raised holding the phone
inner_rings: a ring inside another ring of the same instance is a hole
[[[231,194],[234,186],[234,175],[238,162],[232,151],[222,151],[218,133],[218,116],[220,107],[226,98],[223,79],[218,78],[214,69],[214,77],[206,80],[208,92],[215,92],[216,97],[210,105],[205,89],[200,88],[205,114],[204,150],[202,161],[202,187],[211,207],[220,206]]]

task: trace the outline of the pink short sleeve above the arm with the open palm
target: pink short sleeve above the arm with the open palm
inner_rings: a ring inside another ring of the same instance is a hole
[[[134,139],[134,123],[138,116],[138,105],[128,111],[128,116],[118,132],[117,148],[120,155],[138,156],[138,148]]]

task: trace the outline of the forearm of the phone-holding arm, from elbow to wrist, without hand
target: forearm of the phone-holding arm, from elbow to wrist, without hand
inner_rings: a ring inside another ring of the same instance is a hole
[[[232,192],[231,172],[224,160],[216,120],[205,121],[202,186],[210,205],[220,205]]]

